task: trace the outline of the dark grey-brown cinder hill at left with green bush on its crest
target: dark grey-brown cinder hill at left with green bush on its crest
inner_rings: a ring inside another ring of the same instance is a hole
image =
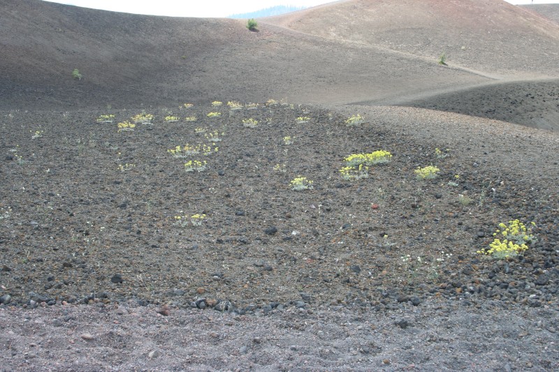
[[[3,1],[3,107],[288,98],[347,103],[488,80],[370,45],[241,20]],[[73,68],[83,75],[71,77]]]

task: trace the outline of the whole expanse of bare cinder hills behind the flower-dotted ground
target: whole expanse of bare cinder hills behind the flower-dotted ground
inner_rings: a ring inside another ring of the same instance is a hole
[[[5,0],[0,17],[4,108],[169,105],[219,91],[557,126],[559,25],[500,0],[341,1],[263,19],[259,32],[34,0]]]

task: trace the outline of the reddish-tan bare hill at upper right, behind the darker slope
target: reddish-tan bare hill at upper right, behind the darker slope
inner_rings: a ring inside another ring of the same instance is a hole
[[[264,21],[486,73],[559,73],[559,25],[502,0],[350,0]]]

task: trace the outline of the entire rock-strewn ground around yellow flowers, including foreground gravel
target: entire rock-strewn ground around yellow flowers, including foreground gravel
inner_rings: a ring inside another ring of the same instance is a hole
[[[50,346],[24,341],[42,323],[55,333],[34,334],[41,342],[83,344],[58,370],[557,366],[545,351],[556,348],[558,310],[552,133],[413,108],[281,104],[146,110],[152,124],[118,132],[141,111],[3,112],[0,307],[12,368],[29,355],[29,369],[52,362]],[[358,113],[365,124],[344,124]],[[101,114],[115,121],[96,123]],[[210,142],[215,131],[221,141]],[[212,154],[168,152],[186,144]],[[340,178],[345,156],[379,149],[391,151],[389,163]],[[203,172],[184,170],[198,159]],[[416,179],[426,165],[439,177]],[[298,176],[312,190],[292,191]],[[202,225],[177,225],[193,214],[205,214]],[[476,253],[515,218],[536,225],[525,254]],[[192,336],[161,330],[173,322]],[[500,352],[487,351],[493,336]],[[185,339],[190,357],[176,352]],[[526,351],[512,355],[519,342]],[[108,351],[117,344],[134,360]]]

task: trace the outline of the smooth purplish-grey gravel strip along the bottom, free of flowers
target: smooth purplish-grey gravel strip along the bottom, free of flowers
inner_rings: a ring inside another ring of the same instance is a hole
[[[0,309],[1,371],[557,371],[558,308]],[[161,315],[165,313],[168,315]]]

